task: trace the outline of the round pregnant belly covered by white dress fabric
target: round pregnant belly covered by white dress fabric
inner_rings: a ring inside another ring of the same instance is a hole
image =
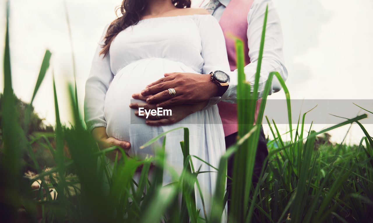
[[[144,102],[134,100],[132,94],[140,93],[147,84],[162,78],[164,73],[170,72],[196,73],[180,62],[160,58],[144,59],[121,69],[110,84],[104,105],[106,132],[109,137],[129,141],[131,143],[130,156],[138,158],[154,156],[155,148],[159,147],[161,142],[156,142],[142,150],[139,147],[162,132],[177,127],[148,126],[145,124],[146,119],[135,116],[135,109],[129,107],[131,102]],[[174,132],[170,135],[173,139],[167,135],[167,141],[181,141],[182,135],[182,131]]]

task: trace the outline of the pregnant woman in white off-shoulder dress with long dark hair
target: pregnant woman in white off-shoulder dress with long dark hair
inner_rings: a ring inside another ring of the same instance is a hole
[[[204,9],[191,9],[190,4],[190,0],[123,1],[123,16],[105,28],[93,59],[85,87],[85,122],[96,138],[130,142],[128,154],[137,158],[157,156],[156,148],[163,139],[140,149],[145,142],[171,129],[187,127],[190,154],[217,167],[225,153],[225,142],[216,105],[196,104],[198,112],[168,126],[146,125],[146,119],[135,116],[135,109],[129,107],[130,103],[141,102],[133,100],[132,94],[162,78],[164,73],[210,73],[216,67],[229,70],[219,23]],[[172,115],[177,115],[183,108],[171,109]],[[166,163],[180,172],[183,167],[180,141],[184,139],[184,131],[170,132],[166,138]],[[195,169],[212,171],[198,175],[209,210],[216,170],[200,160],[192,161]],[[163,185],[175,180],[164,173]],[[197,208],[202,213],[198,191],[196,196]]]

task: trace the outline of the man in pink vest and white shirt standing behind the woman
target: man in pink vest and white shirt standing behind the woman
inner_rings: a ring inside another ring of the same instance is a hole
[[[188,116],[190,112],[196,111],[193,103],[208,101],[208,104],[218,104],[220,117],[225,132],[226,148],[235,143],[237,137],[237,108],[236,108],[236,87],[237,70],[234,41],[228,37],[229,33],[244,40],[245,63],[244,68],[247,81],[254,84],[257,60],[263,29],[264,15],[268,6],[268,18],[266,37],[264,43],[263,59],[260,71],[258,97],[260,98],[268,75],[272,71],[280,73],[284,80],[288,73],[284,66],[282,54],[282,30],[279,16],[271,0],[210,0],[205,8],[219,21],[226,37],[229,65],[231,71],[223,73],[229,76],[228,87],[219,79],[211,77],[211,74],[195,73],[167,73],[165,78],[149,84],[141,94],[134,94],[136,99],[146,100],[148,107],[172,107],[180,104],[190,104],[190,109],[185,109],[185,114],[177,114],[177,118],[159,118],[148,120],[148,125],[168,125],[178,122]],[[219,67],[216,68],[218,70]],[[213,71],[215,73],[216,71]],[[222,74],[224,76],[224,74]],[[173,89],[174,92],[168,89]],[[203,90],[202,90],[203,89]],[[270,94],[277,92],[281,86],[276,78],[273,79]],[[176,93],[176,96],[175,96]],[[220,97],[216,99],[216,96]],[[258,99],[259,99],[258,98]],[[199,108],[206,106],[206,103]],[[134,108],[134,107],[132,107]],[[266,140],[261,129],[258,142],[256,162],[254,165],[254,179],[260,175],[264,159],[268,155]],[[233,157],[233,156],[232,156]],[[232,176],[232,158],[228,162],[228,175]],[[228,182],[229,185],[230,182]],[[229,205],[229,204],[228,204]]]

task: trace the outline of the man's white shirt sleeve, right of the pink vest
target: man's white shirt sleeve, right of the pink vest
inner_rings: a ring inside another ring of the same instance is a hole
[[[258,98],[263,95],[270,72],[277,71],[284,81],[288,78],[288,71],[284,65],[283,37],[280,18],[271,0],[254,0],[249,10],[247,21],[247,37],[250,64],[244,67],[246,80],[252,85],[255,83],[255,74],[258,65],[261,33],[263,30],[264,16],[268,5],[266,37],[264,40],[263,59],[261,63]],[[236,103],[237,99],[237,70],[229,72],[229,87],[221,97],[222,101]],[[269,94],[280,91],[281,85],[277,78],[273,78]],[[253,90],[253,88],[251,88]]]

